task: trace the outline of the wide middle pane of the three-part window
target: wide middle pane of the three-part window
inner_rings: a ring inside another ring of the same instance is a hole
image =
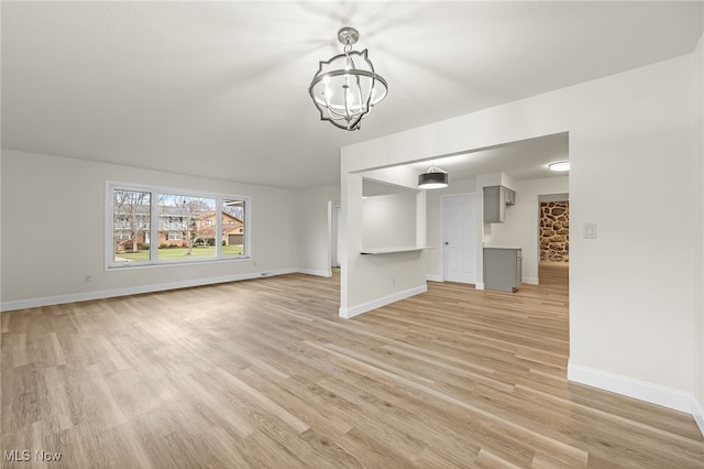
[[[160,194],[158,259],[215,258],[215,198]]]

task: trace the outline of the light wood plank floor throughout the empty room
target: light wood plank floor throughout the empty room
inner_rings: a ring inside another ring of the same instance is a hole
[[[3,313],[2,449],[66,468],[703,468],[690,415],[570,383],[564,266],[354,319],[294,274]]]

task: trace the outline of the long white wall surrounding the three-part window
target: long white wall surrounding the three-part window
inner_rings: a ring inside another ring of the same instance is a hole
[[[251,196],[252,259],[106,272],[106,181]],[[3,150],[2,309],[293,272],[297,217],[292,190]]]

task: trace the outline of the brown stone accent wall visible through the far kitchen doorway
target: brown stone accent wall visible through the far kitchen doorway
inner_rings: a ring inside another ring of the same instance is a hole
[[[570,203],[540,204],[540,260],[570,260]]]

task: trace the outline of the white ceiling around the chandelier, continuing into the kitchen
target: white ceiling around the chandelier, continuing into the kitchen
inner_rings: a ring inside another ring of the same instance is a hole
[[[2,146],[333,184],[340,146],[691,53],[703,4],[2,1]],[[321,122],[307,92],[343,25],[389,84],[356,132]],[[564,153],[564,135],[526,144],[541,154],[561,141]],[[453,177],[534,174],[515,150],[474,154]]]

